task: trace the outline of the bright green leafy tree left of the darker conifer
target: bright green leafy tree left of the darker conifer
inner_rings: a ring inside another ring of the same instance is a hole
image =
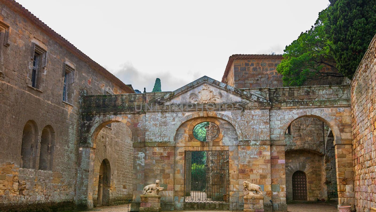
[[[307,80],[326,76],[343,77],[335,66],[334,55],[325,34],[327,12],[328,9],[321,11],[315,25],[286,46],[284,59],[277,66],[278,73],[283,75],[284,86],[302,86]],[[323,71],[324,66],[334,71]]]

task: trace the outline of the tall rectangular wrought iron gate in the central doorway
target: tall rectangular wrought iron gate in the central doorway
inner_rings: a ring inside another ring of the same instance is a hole
[[[185,202],[229,202],[229,151],[185,151]]]

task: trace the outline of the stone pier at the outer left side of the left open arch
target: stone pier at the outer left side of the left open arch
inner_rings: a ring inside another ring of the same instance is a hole
[[[94,150],[93,147],[79,149],[76,205],[80,210],[93,208]]]

